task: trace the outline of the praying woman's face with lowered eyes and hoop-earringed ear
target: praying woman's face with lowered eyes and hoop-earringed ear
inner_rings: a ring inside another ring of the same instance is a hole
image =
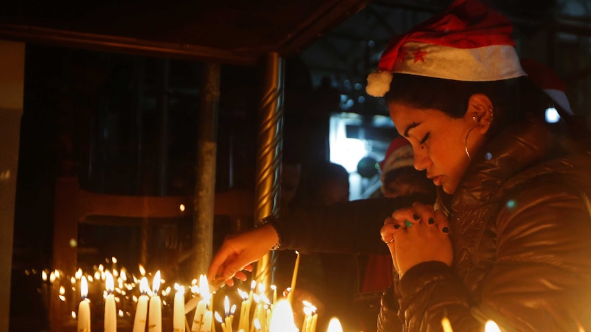
[[[453,194],[466,172],[470,159],[466,155],[466,134],[477,125],[466,113],[463,118],[451,118],[438,110],[422,110],[401,103],[389,103],[390,116],[401,136],[411,142],[414,166],[426,170],[435,186]],[[478,136],[474,131],[470,136]],[[468,140],[468,151],[474,148]]]

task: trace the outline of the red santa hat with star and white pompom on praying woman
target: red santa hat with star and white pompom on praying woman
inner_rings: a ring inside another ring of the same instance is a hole
[[[456,0],[441,14],[391,40],[378,71],[367,77],[367,94],[383,97],[392,73],[498,81],[524,76],[511,38],[513,25],[477,0]]]

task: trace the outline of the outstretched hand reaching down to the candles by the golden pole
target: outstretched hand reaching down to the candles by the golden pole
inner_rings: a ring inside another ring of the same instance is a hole
[[[251,271],[253,261],[261,259],[278,242],[277,232],[272,225],[263,225],[237,235],[229,235],[214,255],[207,271],[207,279],[216,284],[226,282],[234,285],[233,277],[242,281],[246,274],[242,270]],[[221,282],[220,282],[221,281]]]

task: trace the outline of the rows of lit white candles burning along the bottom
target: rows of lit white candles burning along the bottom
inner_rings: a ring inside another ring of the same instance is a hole
[[[234,322],[234,314],[236,305],[230,305],[228,296],[224,297],[224,316],[221,316],[217,311],[213,312],[213,292],[209,291],[209,283],[206,276],[200,276],[199,285],[194,279],[189,286],[192,295],[189,301],[185,301],[186,290],[182,285],[175,283],[174,289],[176,293],[173,298],[173,332],[215,332],[214,319],[219,322],[221,332],[234,332],[234,327],[237,327],[238,332],[315,332],[317,316],[316,308],[309,302],[304,301],[304,320],[301,329],[296,327],[293,320],[293,311],[291,310],[291,294],[295,288],[295,280],[298,274],[299,257],[296,258],[293,277],[291,281],[291,288],[288,289],[287,298],[278,299],[277,288],[272,285],[271,298],[267,297],[267,290],[265,285],[252,281],[250,285],[250,292],[243,292],[239,288],[237,292],[242,299],[240,305],[239,316],[237,324]],[[112,257],[116,262],[116,259]],[[160,271],[154,274],[152,280],[152,289],[149,288],[147,277],[145,277],[145,270],[140,266],[140,272],[143,277],[139,280],[140,296],[132,296],[134,303],[136,303],[133,332],[145,332],[146,327],[149,332],[162,331],[162,298],[160,295],[167,296],[171,292],[171,288],[167,288],[160,292],[160,285],[165,281],[160,277]],[[49,281],[55,283],[63,274],[59,270],[54,270],[48,274],[42,271],[42,279],[45,281],[44,285]],[[114,277],[117,278],[117,283]],[[93,274],[83,274],[82,270],[78,270],[74,277],[71,277],[72,289],[75,290],[75,283],[80,281],[80,296],[81,301],[78,304],[77,314],[73,311],[72,316],[77,318],[77,331],[91,332],[91,306],[88,298],[88,281],[104,281],[104,331],[117,331],[117,316],[123,316],[123,311],[119,310],[117,314],[117,303],[121,302],[119,297],[115,296],[115,292],[129,298],[128,292],[132,292],[138,283],[138,279],[132,275],[132,280],[128,283],[128,276],[125,269],[121,272],[117,269],[110,270],[104,266],[95,268]],[[258,292],[255,292],[258,290]],[[47,290],[46,290],[47,291]],[[60,299],[66,301],[64,297],[64,287],[60,286]],[[167,303],[164,301],[164,304]],[[193,320],[191,324],[186,319],[187,315],[195,309]],[[442,328],[444,332],[453,332],[452,326],[448,318],[442,319]],[[327,332],[342,331],[339,321],[335,318],[330,321]],[[498,326],[489,321],[486,323],[485,332],[498,332]]]

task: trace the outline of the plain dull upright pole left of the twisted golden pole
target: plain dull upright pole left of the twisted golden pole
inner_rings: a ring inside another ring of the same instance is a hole
[[[213,203],[219,109],[219,64],[204,64],[193,211],[193,275],[206,274],[213,252]]]

